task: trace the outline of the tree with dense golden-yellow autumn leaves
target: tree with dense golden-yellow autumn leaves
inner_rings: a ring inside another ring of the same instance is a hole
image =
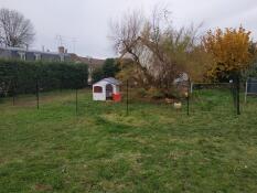
[[[213,58],[207,71],[208,78],[235,77],[250,64],[250,32],[243,26],[208,31],[203,45]]]

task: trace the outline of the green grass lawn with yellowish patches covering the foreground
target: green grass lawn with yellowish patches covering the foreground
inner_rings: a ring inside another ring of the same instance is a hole
[[[257,192],[257,98],[201,90],[186,108],[73,90],[0,101],[0,192]]]

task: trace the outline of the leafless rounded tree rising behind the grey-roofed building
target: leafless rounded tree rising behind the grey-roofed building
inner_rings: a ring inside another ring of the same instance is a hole
[[[15,10],[0,10],[0,44],[23,47],[34,40],[34,28],[30,20]]]

